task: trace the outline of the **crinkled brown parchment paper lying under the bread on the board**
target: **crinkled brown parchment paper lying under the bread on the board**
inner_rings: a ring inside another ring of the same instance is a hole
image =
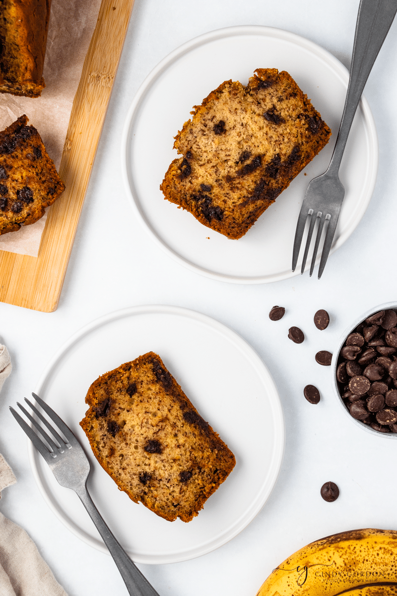
[[[74,95],[98,19],[101,0],[52,0],[41,97],[0,94],[0,130],[26,114],[59,170]],[[0,236],[0,250],[37,256],[46,214]]]

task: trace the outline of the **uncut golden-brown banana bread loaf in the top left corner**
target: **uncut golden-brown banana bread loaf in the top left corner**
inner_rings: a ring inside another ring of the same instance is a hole
[[[0,92],[39,97],[51,0],[1,0]]]

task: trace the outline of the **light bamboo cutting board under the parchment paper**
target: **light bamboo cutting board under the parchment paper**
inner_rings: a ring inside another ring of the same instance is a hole
[[[0,250],[1,302],[43,312],[57,308],[133,4],[102,0],[62,153],[65,191],[49,207],[38,257]]]

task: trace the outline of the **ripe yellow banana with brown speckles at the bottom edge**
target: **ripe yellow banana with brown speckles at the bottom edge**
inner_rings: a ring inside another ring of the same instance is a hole
[[[397,596],[397,532],[351,530],[296,551],[257,596]]]

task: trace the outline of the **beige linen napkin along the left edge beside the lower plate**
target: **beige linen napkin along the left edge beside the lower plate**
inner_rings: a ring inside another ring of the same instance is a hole
[[[0,390],[11,373],[7,347],[0,345]],[[17,482],[0,454],[1,491]],[[0,513],[0,596],[67,596],[25,530]]]

